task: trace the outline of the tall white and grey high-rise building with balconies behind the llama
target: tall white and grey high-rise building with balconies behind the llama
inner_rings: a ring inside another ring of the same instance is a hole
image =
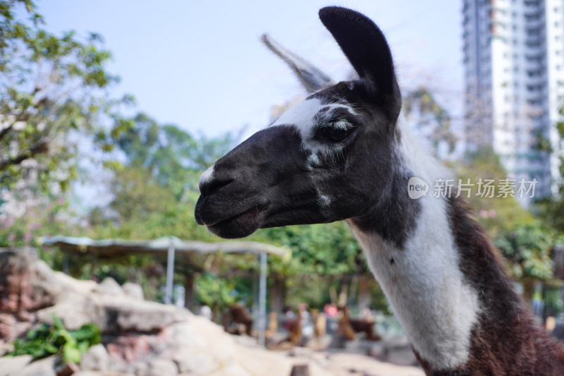
[[[564,104],[564,0],[463,0],[465,142],[490,146],[513,178],[551,193]]]

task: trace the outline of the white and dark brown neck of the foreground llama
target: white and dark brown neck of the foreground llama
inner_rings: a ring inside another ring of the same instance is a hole
[[[367,229],[354,219],[348,224],[425,370],[560,375],[545,370],[556,358],[564,365],[561,346],[532,324],[483,229],[461,199],[433,197],[432,182],[450,178],[448,171],[405,136],[403,178],[430,183],[428,195],[417,199],[405,241],[390,241],[376,226]],[[404,187],[396,195],[407,194],[407,180]],[[405,200],[394,205],[401,212]]]

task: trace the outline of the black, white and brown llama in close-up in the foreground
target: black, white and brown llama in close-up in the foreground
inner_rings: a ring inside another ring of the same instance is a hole
[[[564,348],[533,324],[465,202],[408,197],[410,177],[449,172],[398,123],[382,32],[346,8],[319,18],[359,78],[333,84],[285,55],[312,94],[202,174],[197,223],[238,238],[344,220],[427,375],[564,375]]]

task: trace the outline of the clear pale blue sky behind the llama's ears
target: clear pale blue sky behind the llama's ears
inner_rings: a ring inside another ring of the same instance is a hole
[[[47,29],[97,32],[121,76],[114,95],[135,111],[192,134],[216,136],[269,124],[271,107],[305,96],[289,68],[259,42],[264,32],[333,80],[352,68],[319,21],[339,5],[376,22],[391,45],[403,90],[424,83],[460,111],[461,1],[37,1]]]

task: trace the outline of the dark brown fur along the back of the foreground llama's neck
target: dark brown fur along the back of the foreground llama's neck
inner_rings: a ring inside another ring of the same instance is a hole
[[[472,330],[470,358],[462,367],[437,372],[416,353],[427,375],[564,375],[563,345],[534,324],[464,200],[451,198],[448,204],[460,269],[479,292],[484,312]]]

